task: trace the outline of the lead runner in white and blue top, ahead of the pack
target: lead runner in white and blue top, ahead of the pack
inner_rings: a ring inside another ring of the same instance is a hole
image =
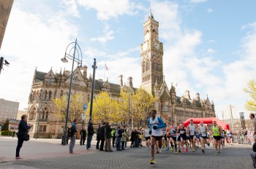
[[[151,165],[156,164],[154,160],[154,145],[158,141],[159,149],[162,147],[162,128],[165,127],[165,123],[162,122],[160,117],[156,117],[157,111],[151,111],[151,118],[148,120],[149,128],[151,132],[151,157],[152,160],[150,161]]]

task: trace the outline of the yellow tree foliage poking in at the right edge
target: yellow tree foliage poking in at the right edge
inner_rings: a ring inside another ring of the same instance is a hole
[[[255,79],[250,80],[247,83],[247,87],[244,89],[245,93],[249,93],[251,98],[249,101],[246,101],[245,109],[249,111],[256,111],[256,81]]]

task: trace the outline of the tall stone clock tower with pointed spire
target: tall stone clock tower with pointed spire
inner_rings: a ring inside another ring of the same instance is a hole
[[[162,55],[163,44],[159,42],[159,23],[154,20],[150,11],[148,20],[143,23],[144,42],[140,44],[141,57],[141,87],[149,94],[154,95],[154,86],[157,82],[163,83]]]

